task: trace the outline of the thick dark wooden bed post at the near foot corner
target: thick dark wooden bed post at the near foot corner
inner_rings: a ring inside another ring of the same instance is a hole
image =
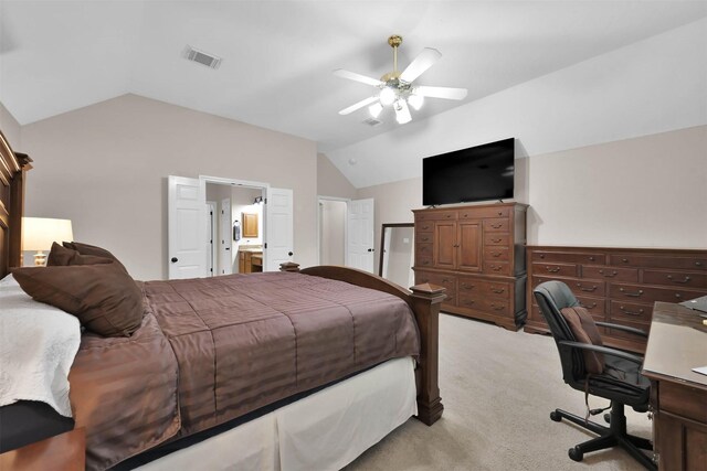
[[[432,425],[442,417],[444,406],[440,397],[440,307],[446,298],[445,289],[423,283],[410,288],[412,310],[420,328],[420,389],[418,390],[418,418]]]

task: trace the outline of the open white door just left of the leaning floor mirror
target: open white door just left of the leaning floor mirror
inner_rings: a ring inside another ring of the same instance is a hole
[[[346,265],[374,272],[373,199],[348,202]]]

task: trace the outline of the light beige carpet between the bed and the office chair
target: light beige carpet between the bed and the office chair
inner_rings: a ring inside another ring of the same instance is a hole
[[[584,416],[584,394],[562,382],[552,338],[510,332],[454,315],[440,319],[440,390],[444,414],[432,427],[410,419],[366,451],[347,471],[394,470],[642,470],[625,451],[567,450],[594,436],[567,421]],[[592,408],[609,402],[591,397]],[[629,432],[650,438],[646,414],[626,407]],[[602,416],[594,416],[602,425]]]

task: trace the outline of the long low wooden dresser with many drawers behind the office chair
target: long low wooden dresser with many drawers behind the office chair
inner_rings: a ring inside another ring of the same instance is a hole
[[[707,295],[707,250],[528,246],[526,332],[549,332],[532,297],[544,281],[566,282],[595,320],[648,331],[655,301]],[[645,340],[601,329],[605,344],[643,352]]]

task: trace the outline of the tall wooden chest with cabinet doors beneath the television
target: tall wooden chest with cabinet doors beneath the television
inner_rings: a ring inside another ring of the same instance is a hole
[[[526,210],[496,203],[413,211],[415,285],[446,288],[443,311],[517,329],[526,318]]]

